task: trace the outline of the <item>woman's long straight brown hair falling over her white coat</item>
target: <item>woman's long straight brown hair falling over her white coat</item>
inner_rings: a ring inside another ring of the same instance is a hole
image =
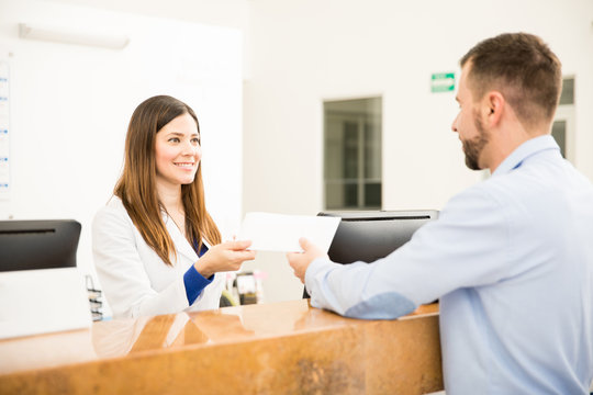
[[[113,190],[146,244],[169,266],[172,266],[171,257],[177,259],[177,251],[161,217],[164,208],[156,189],[155,137],[163,126],[183,114],[191,115],[200,133],[193,110],[175,98],[153,97],[136,108],[125,138],[124,169]],[[221,233],[205,210],[201,166],[193,182],[181,185],[181,200],[187,237],[192,245],[197,241],[198,251],[203,240],[211,245],[221,242]]]

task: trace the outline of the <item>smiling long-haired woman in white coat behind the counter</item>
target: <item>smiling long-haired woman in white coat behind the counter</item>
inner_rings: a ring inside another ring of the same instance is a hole
[[[92,224],[99,280],[113,317],[219,307],[224,271],[255,258],[250,241],[221,242],[208,214],[194,112],[167,95],[132,114],[123,173]]]

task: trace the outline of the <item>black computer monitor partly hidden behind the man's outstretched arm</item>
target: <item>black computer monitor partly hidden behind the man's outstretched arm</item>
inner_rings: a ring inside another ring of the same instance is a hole
[[[387,257],[406,244],[416,229],[436,219],[438,211],[327,212],[317,215],[342,217],[327,255],[336,263],[348,264],[356,261],[370,263]],[[303,297],[309,297],[306,290]]]

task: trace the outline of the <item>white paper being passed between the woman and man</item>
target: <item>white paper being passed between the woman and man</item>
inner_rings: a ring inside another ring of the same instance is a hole
[[[304,237],[327,252],[339,225],[339,217],[247,213],[238,234],[251,240],[250,250],[300,252]]]

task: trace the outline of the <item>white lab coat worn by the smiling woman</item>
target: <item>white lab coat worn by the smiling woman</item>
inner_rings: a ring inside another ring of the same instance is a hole
[[[119,198],[112,198],[94,216],[94,266],[114,318],[219,308],[225,273],[216,273],[190,306],[183,274],[198,255],[166,213],[163,219],[177,250],[172,267],[144,241]]]

